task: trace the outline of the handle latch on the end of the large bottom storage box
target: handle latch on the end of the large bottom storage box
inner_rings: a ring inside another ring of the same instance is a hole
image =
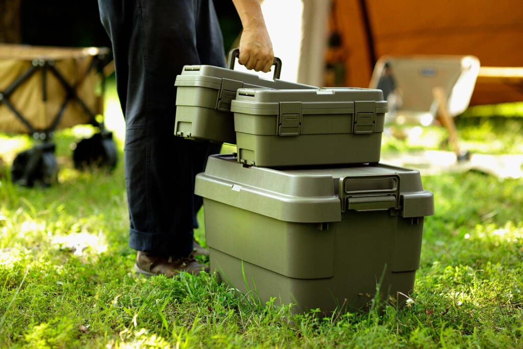
[[[343,177],[339,179],[342,212],[400,209],[400,176],[396,174]],[[392,214],[391,213],[391,214]]]

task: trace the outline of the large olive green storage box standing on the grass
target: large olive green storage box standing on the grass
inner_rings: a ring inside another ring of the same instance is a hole
[[[294,311],[400,306],[414,287],[433,194],[418,171],[384,164],[279,171],[213,155],[196,177],[211,271]]]

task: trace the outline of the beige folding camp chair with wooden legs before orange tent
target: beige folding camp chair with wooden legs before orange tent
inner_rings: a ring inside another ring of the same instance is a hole
[[[370,87],[382,89],[389,101],[387,124],[428,126],[438,119],[458,161],[468,160],[453,117],[469,106],[479,70],[480,61],[471,55],[384,56],[374,67]]]

